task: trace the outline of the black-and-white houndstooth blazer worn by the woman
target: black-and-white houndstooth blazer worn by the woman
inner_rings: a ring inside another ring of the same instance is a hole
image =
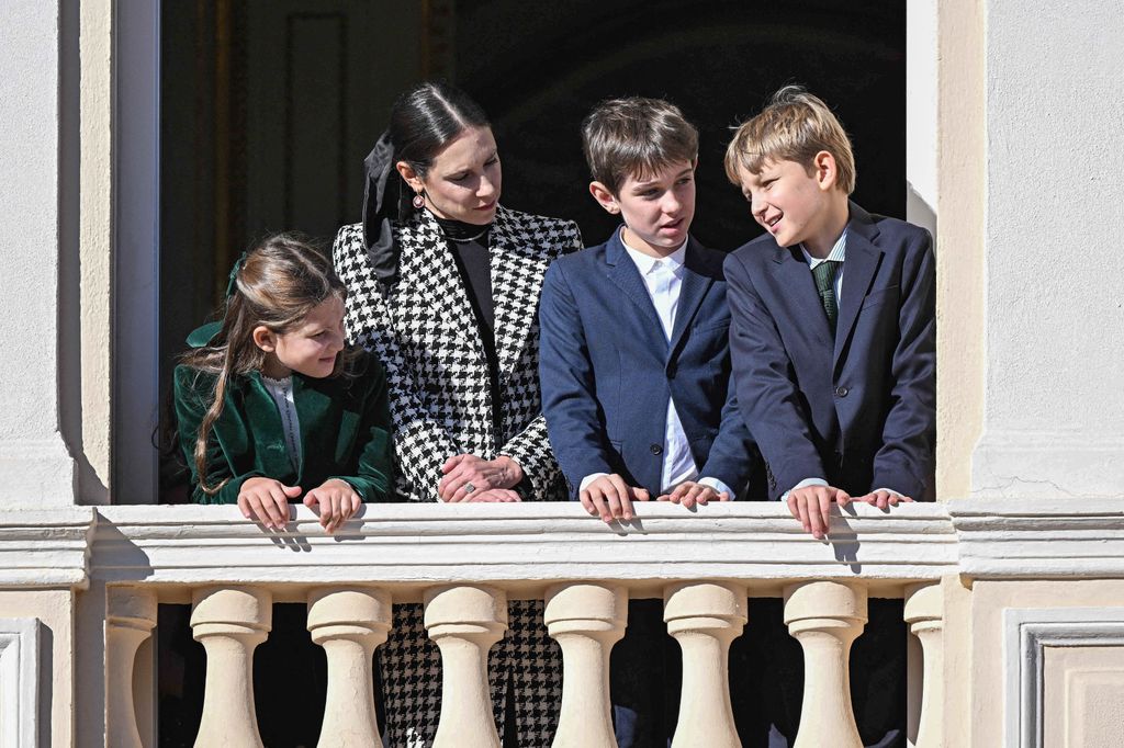
[[[519,463],[533,487],[525,499],[565,499],[538,391],[538,293],[551,261],[581,248],[578,226],[502,207],[496,213],[490,252],[500,403],[491,402],[480,330],[437,222],[419,210],[393,231],[401,255],[392,285],[373,273],[362,224],[339,229],[333,261],[347,285],[347,339],[373,350],[387,370],[399,495],[437,501],[442,465],[470,453]],[[500,435],[492,432],[492,408],[501,409]]]

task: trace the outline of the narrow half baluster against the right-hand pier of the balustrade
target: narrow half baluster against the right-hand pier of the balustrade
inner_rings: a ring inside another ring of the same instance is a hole
[[[944,745],[944,594],[940,582],[906,587],[905,619],[921,640],[924,667],[921,678],[921,719],[916,724],[916,748]],[[910,673],[910,681],[914,674]],[[910,722],[915,715],[910,714]],[[914,732],[910,724],[910,732]]]

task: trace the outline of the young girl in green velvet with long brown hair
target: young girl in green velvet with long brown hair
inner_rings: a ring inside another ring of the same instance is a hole
[[[277,530],[303,496],[334,532],[390,499],[386,376],[345,347],[345,297],[330,262],[288,235],[235,264],[225,318],[192,332],[175,367],[193,501],[237,503]]]

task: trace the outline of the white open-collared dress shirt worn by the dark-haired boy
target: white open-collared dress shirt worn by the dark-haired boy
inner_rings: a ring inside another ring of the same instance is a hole
[[[671,343],[671,332],[676,327],[676,311],[679,309],[679,292],[683,285],[683,258],[687,256],[687,241],[667,257],[659,258],[645,255],[628,246],[622,232],[620,244],[640,271],[644,279],[644,288],[655,307],[656,317],[660,318],[660,327],[663,328],[663,337]],[[668,399],[668,417],[663,436],[663,472],[661,475],[662,493],[669,493],[683,481],[695,481],[698,478],[699,469],[691,456],[690,444],[683,432],[683,425],[676,412],[676,401]],[[582,491],[590,483],[605,473],[593,473],[587,475],[581,481]],[[715,491],[726,492],[729,498],[734,498],[734,492],[729,486],[717,478],[704,477],[698,483],[708,485]]]

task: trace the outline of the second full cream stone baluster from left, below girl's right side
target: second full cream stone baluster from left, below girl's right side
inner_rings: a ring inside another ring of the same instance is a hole
[[[390,630],[390,595],[373,587],[316,590],[308,630],[328,659],[328,691],[318,748],[382,748],[374,713],[374,649]]]

